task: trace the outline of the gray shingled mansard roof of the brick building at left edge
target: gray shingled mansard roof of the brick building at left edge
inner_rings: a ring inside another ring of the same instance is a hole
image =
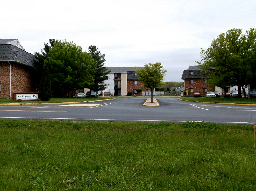
[[[2,42],[5,39],[1,39]],[[6,39],[8,40],[8,39]],[[34,67],[35,56],[12,44],[0,43],[0,61],[13,61],[27,66]]]

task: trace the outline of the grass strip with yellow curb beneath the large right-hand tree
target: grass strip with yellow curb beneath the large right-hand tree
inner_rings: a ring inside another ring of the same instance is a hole
[[[256,98],[253,97],[251,100],[248,98],[233,98],[233,97],[182,97],[182,100],[199,101],[199,102],[217,102],[217,103],[244,103],[244,104],[256,104]]]

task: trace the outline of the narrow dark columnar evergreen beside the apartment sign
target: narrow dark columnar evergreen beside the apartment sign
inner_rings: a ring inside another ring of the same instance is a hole
[[[40,79],[39,97],[43,101],[49,101],[52,96],[51,91],[51,74],[48,67],[43,67]]]

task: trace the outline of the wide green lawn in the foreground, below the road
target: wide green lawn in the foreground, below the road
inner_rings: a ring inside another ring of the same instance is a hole
[[[0,190],[255,190],[253,126],[0,120]]]

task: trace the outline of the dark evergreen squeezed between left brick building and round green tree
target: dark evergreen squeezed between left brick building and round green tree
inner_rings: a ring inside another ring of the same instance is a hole
[[[57,42],[59,42],[59,40],[55,40],[55,39],[49,39],[49,43],[44,43],[44,47],[43,50],[41,50],[41,54],[38,52],[35,52],[35,67],[34,67],[34,79],[35,79],[35,85],[36,88],[39,89],[40,87],[40,79],[41,79],[41,74],[43,71],[43,67],[44,67],[44,61],[45,60],[49,60],[49,56],[48,53],[49,51],[57,44]]]

